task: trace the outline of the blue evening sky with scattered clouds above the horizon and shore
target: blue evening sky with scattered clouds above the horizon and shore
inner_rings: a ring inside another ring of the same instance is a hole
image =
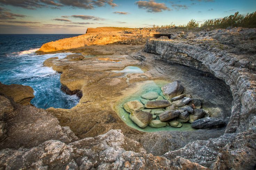
[[[256,0],[0,0],[0,34],[84,34],[88,27],[199,24],[239,11]]]

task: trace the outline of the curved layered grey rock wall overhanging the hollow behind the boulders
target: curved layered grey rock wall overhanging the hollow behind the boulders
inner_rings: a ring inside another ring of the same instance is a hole
[[[145,45],[145,52],[159,54],[158,60],[179,63],[210,72],[230,86],[233,95],[232,112],[226,133],[243,131],[256,113],[255,73],[248,68],[249,61],[241,55],[211,48],[202,41],[151,40]],[[211,44],[211,40],[204,41]]]

